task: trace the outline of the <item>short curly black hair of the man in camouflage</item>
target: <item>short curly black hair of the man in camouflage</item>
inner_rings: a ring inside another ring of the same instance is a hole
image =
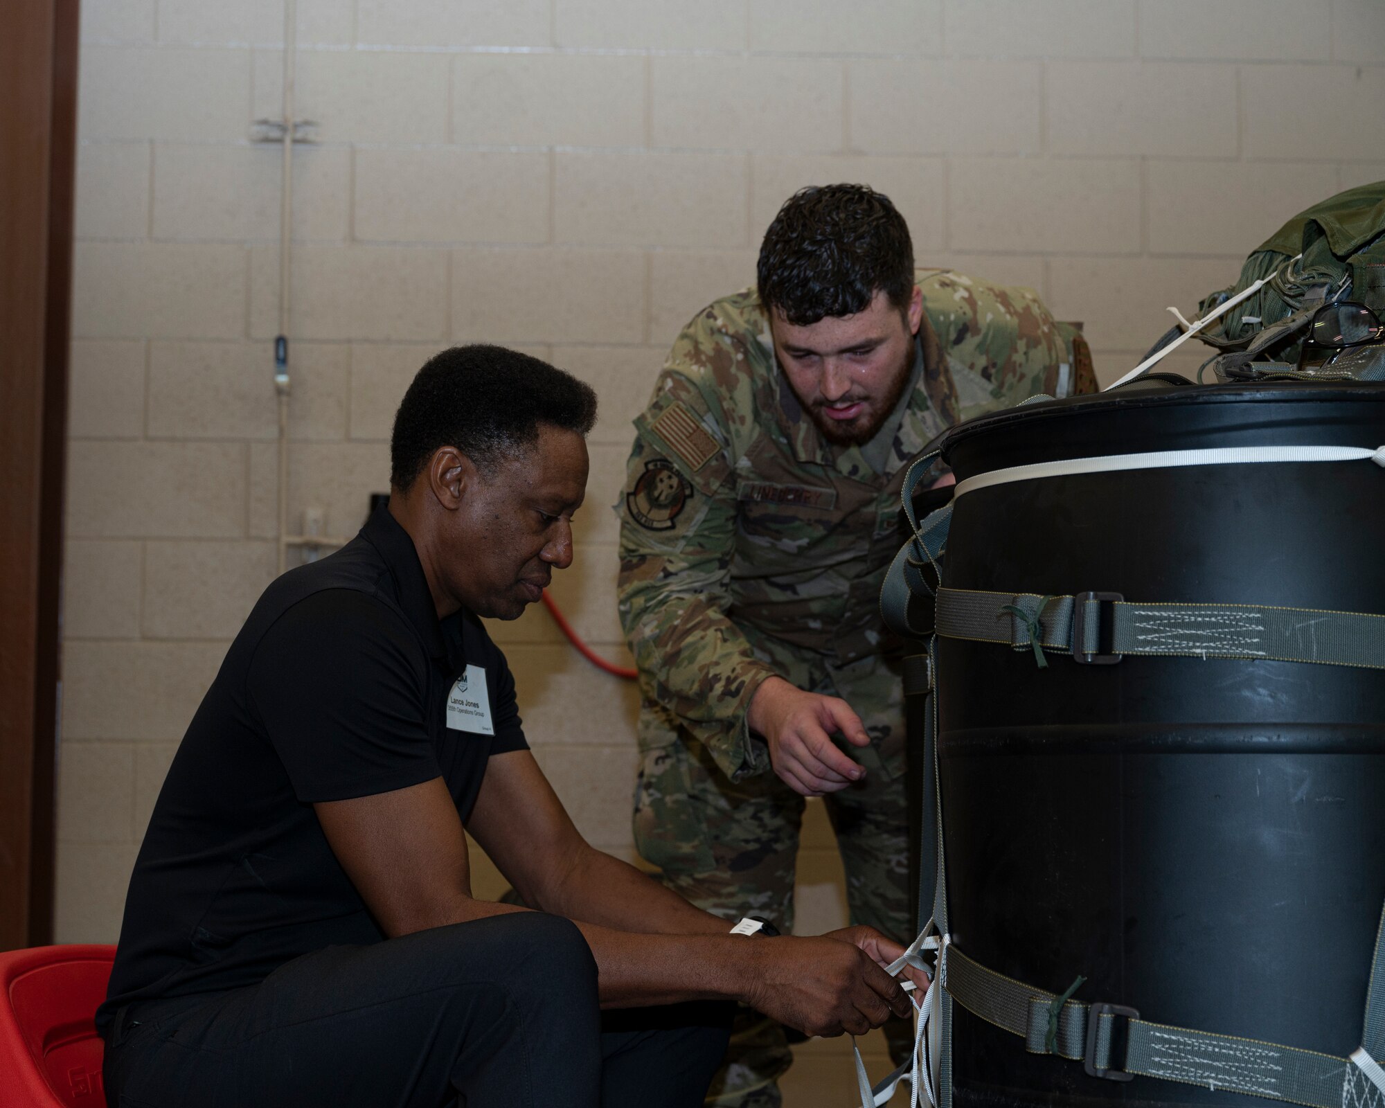
[[[889,197],[866,184],[799,188],[784,201],[755,267],[760,303],[795,327],[853,316],[884,291],[900,312],[914,291],[914,244]]]

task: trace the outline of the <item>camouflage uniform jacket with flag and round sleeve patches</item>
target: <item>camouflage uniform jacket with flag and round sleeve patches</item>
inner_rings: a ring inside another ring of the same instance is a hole
[[[819,435],[753,288],[708,306],[673,343],[634,421],[615,506],[645,745],[645,730],[676,724],[733,780],[762,771],[745,713],[765,677],[802,684],[805,663],[845,666],[891,647],[879,587],[903,542],[910,457],[960,418],[1051,391],[1071,364],[1065,325],[1033,291],[947,270],[917,280],[922,371],[884,472]]]

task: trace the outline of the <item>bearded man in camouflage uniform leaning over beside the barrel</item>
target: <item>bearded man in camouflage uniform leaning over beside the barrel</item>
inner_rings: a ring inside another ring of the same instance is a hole
[[[673,343],[616,504],[636,845],[692,903],[788,931],[803,796],[824,796],[852,922],[907,942],[903,695],[878,611],[906,463],[1071,384],[1072,332],[1025,288],[915,283],[909,229],[861,186],[792,197],[758,278]],[[789,1062],[783,1028],[745,1012],[708,1102],[778,1105]]]

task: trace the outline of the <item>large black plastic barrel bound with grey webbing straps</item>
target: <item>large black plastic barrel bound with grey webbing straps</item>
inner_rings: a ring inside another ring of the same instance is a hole
[[[1385,443],[1385,385],[1217,385],[957,428],[957,479],[1072,457]],[[943,583],[1385,614],[1385,471],[1195,465],[956,501]],[[1148,1021],[1346,1057],[1385,900],[1385,673],[938,640],[950,931],[981,964]],[[931,861],[925,860],[925,866]],[[954,1104],[1278,1101],[1116,1083],[954,1004]]]

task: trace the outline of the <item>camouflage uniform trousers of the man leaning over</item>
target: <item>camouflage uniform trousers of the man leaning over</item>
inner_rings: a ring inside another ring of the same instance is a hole
[[[867,773],[863,781],[824,798],[846,871],[850,921],[907,943],[913,920],[897,668],[874,656],[816,669],[817,680],[794,683],[845,699],[871,735],[866,748],[838,740]],[[805,674],[785,676],[794,680]],[[694,904],[726,920],[763,915],[788,933],[794,927],[803,796],[771,771],[730,781],[706,748],[656,705],[641,709],[640,755],[634,802],[640,856],[662,870],[663,884]],[[910,1024],[892,1019],[885,1032],[897,1064],[913,1043]],[[778,1108],[777,1080],[791,1062],[784,1028],[742,1008],[706,1104]]]

